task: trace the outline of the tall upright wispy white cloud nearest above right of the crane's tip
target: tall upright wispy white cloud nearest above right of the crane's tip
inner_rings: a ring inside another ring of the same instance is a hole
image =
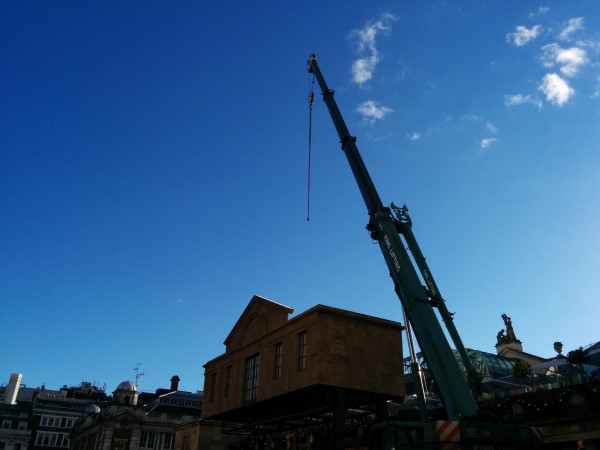
[[[367,22],[362,28],[352,31],[351,37],[357,40],[359,54],[359,58],[352,63],[352,79],[355,83],[362,86],[373,78],[375,67],[381,59],[377,36],[388,34],[396,20],[394,15],[385,13],[379,20]]]

